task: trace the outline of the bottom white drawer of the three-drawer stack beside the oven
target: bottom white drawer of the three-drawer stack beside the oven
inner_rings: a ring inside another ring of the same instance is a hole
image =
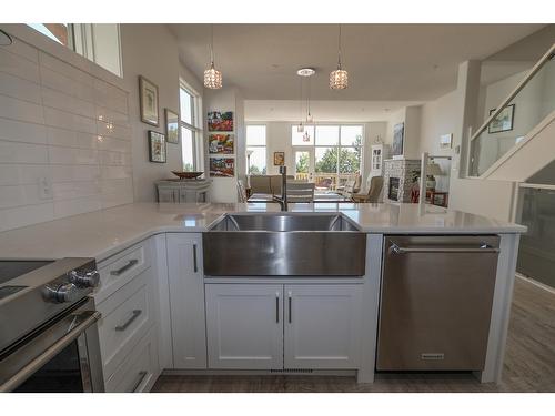
[[[105,382],[105,390],[109,393],[149,392],[159,374],[155,331],[151,328]]]

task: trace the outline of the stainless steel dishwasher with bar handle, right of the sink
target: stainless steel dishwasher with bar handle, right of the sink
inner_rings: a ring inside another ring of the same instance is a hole
[[[481,371],[500,237],[386,236],[379,371]]]

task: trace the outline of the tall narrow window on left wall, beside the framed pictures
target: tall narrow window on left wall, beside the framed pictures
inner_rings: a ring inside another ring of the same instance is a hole
[[[199,171],[203,164],[200,98],[183,81],[179,91],[179,102],[183,170]]]

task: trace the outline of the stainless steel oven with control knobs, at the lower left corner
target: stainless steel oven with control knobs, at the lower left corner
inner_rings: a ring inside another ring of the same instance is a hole
[[[0,392],[103,392],[100,313],[89,297],[94,261],[37,262],[31,271],[20,262],[26,273],[8,278],[14,263],[0,261]]]

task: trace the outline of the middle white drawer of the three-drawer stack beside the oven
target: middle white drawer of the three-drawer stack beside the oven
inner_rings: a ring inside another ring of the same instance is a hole
[[[111,376],[154,323],[153,278],[148,268],[98,305],[102,313],[99,336],[104,378]]]

